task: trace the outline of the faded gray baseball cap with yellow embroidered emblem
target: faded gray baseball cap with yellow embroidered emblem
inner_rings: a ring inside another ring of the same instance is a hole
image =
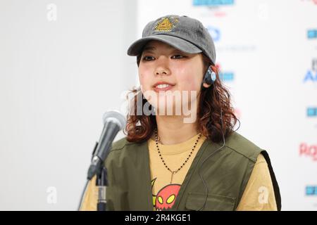
[[[215,65],[216,51],[211,35],[199,20],[187,15],[166,15],[149,22],[142,38],[130,45],[128,55],[138,56],[152,40],[162,41],[185,53],[205,53]]]

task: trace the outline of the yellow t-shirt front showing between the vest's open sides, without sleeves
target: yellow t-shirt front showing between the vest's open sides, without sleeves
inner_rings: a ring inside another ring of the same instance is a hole
[[[189,153],[194,147],[199,134],[182,143],[174,145],[163,145],[159,143],[159,149],[166,165],[172,170],[177,170],[187,160]],[[149,162],[151,169],[151,185],[154,210],[168,210],[173,207],[176,196],[180,190],[182,181],[185,179],[187,171],[192,165],[199,148],[204,143],[206,137],[201,136],[194,148],[192,155],[185,165],[176,174],[173,174],[173,181],[170,184],[172,173],[166,169],[159,156],[154,139],[149,139]]]

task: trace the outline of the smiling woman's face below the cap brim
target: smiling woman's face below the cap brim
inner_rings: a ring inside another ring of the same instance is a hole
[[[142,93],[158,112],[164,106],[173,108],[175,115],[176,103],[176,106],[187,104],[187,108],[192,107],[190,104],[196,103],[204,75],[203,70],[201,53],[183,53],[161,41],[149,41],[139,62]],[[158,82],[163,85],[158,86]],[[171,96],[173,103],[168,101]]]

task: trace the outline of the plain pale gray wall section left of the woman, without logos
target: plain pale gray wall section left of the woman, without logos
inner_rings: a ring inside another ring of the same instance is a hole
[[[77,209],[102,115],[135,83],[135,18],[134,0],[0,0],[0,210]]]

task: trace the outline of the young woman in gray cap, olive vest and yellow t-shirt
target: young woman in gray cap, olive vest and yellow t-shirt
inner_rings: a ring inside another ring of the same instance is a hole
[[[194,18],[166,15],[128,49],[140,89],[125,138],[106,159],[107,210],[280,210],[268,153],[233,130],[213,40]],[[96,210],[93,180],[82,210]]]

